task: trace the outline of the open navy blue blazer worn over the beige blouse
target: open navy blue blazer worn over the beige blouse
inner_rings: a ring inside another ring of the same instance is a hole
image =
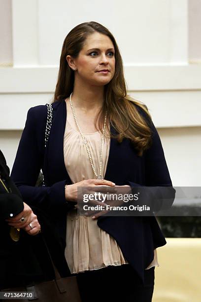
[[[66,184],[72,183],[65,167],[63,148],[67,110],[65,100],[57,101],[52,106],[52,127],[46,149],[44,138],[47,108],[40,105],[29,110],[11,177],[25,202],[43,207],[52,213],[52,224],[60,235],[64,252],[66,215],[73,206],[66,202],[64,189]],[[140,112],[146,115],[142,110]],[[172,186],[161,140],[152,121],[149,123],[153,132],[153,143],[141,157],[137,155],[129,139],[118,143],[116,139],[111,138],[104,179],[118,186]],[[115,133],[111,125],[110,131]],[[46,186],[35,187],[40,169],[44,174]],[[144,269],[152,262],[154,249],[166,244],[156,218],[99,217],[97,225],[114,237],[124,257],[144,282]]]

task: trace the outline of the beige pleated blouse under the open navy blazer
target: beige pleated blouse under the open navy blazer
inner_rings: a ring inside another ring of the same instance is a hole
[[[88,143],[95,170],[99,173],[101,133],[84,134]],[[108,161],[110,139],[104,139],[102,148],[102,175],[104,178]],[[72,183],[95,179],[88,153],[81,134],[66,123],[64,134],[64,159]],[[71,273],[100,269],[108,265],[128,264],[115,239],[97,225],[92,217],[78,216],[74,208],[67,214],[65,257]],[[137,260],[136,260],[137,261]],[[159,266],[157,253],[146,268]]]

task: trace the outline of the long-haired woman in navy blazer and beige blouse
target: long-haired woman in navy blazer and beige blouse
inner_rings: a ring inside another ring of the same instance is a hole
[[[118,46],[99,23],[67,35],[52,108],[46,148],[47,108],[29,110],[13,180],[52,215],[63,248],[62,257],[53,247],[58,268],[66,274],[65,254],[83,301],[150,302],[156,248],[166,244],[156,218],[79,216],[75,207],[79,187],[172,186],[147,108],[127,96]],[[35,188],[41,168],[45,186]]]

